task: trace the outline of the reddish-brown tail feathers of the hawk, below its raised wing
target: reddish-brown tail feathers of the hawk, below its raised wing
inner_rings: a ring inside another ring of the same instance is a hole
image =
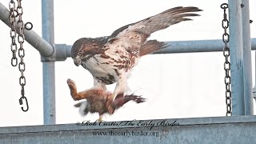
[[[152,54],[158,50],[165,49],[168,47],[166,42],[158,42],[157,40],[149,40],[145,44],[143,44],[139,50],[139,56],[142,57],[146,54]]]

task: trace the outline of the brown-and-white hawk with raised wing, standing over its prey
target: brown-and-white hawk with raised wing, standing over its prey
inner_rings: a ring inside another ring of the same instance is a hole
[[[101,38],[80,38],[72,46],[71,56],[76,66],[82,65],[94,78],[94,86],[106,89],[116,83],[114,99],[128,90],[126,78],[143,55],[166,47],[156,40],[146,41],[150,34],[178,22],[198,16],[197,7],[174,7],[150,18],[122,26],[113,34]]]

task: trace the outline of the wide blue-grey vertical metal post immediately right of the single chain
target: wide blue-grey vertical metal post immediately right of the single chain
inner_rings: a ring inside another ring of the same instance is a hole
[[[232,114],[244,115],[241,0],[229,0]]]

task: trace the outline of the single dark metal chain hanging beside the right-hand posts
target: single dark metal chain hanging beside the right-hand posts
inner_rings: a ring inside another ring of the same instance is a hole
[[[224,42],[223,55],[225,57],[224,70],[226,72],[224,82],[226,85],[226,116],[232,115],[231,110],[231,90],[230,90],[230,48],[227,46],[227,43],[230,42],[230,34],[227,34],[227,29],[229,27],[229,20],[227,19],[226,9],[228,9],[228,4],[223,3],[221,8],[224,10],[222,28],[224,29],[224,34],[222,34],[222,41]]]

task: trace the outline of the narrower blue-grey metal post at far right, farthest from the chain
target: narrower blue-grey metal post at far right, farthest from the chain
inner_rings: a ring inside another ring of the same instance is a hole
[[[250,10],[249,0],[242,0],[242,38],[243,38],[243,80],[245,114],[253,115],[253,90],[251,70],[251,42],[250,42]]]

